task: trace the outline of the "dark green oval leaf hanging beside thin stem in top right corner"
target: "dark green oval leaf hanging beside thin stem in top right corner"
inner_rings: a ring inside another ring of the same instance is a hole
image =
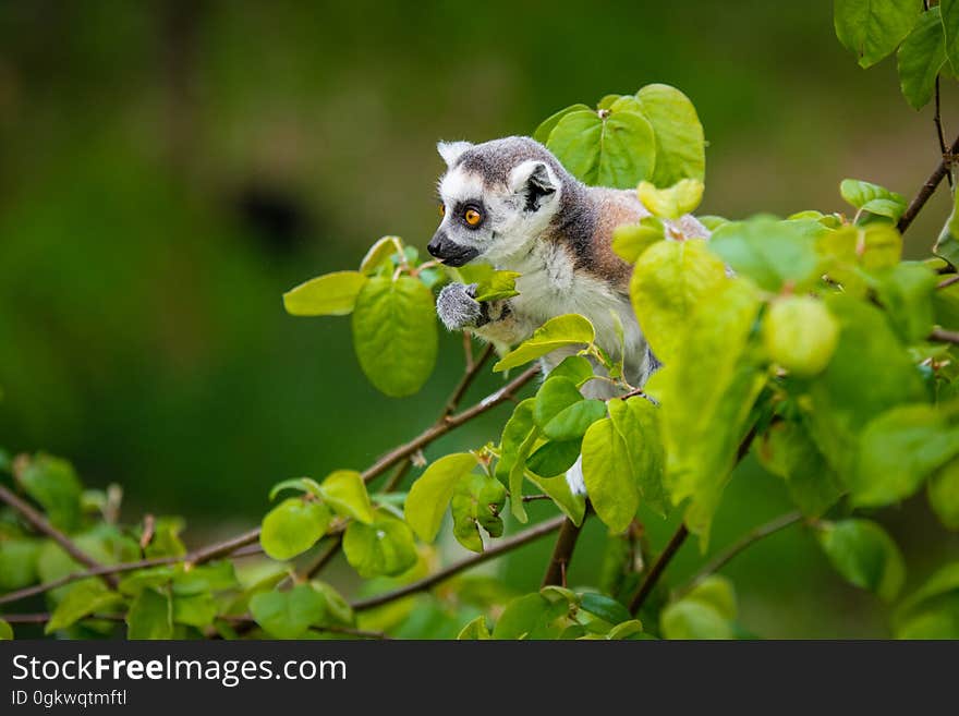
[[[913,109],[922,109],[933,98],[936,76],[946,63],[946,36],[938,5],[922,13],[896,58],[902,96]]]

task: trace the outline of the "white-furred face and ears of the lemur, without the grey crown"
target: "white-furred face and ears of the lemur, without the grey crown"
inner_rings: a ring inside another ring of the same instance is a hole
[[[505,185],[490,184],[457,163],[472,146],[438,145],[449,169],[439,180],[444,217],[429,251],[450,265],[481,258],[501,267],[529,253],[556,215],[562,187],[550,167],[536,159],[511,168]]]

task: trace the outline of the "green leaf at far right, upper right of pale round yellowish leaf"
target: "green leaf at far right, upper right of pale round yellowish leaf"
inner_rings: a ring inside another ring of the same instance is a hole
[[[889,314],[893,327],[906,343],[919,343],[935,324],[933,295],[938,275],[925,264],[903,262],[875,276],[879,303]]]

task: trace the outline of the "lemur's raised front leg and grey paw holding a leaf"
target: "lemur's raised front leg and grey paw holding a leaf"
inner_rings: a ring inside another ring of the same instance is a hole
[[[476,301],[475,295],[475,283],[450,283],[442,288],[436,300],[436,313],[449,330],[469,328],[485,340],[507,345],[532,335],[535,326],[513,310],[509,299]]]

